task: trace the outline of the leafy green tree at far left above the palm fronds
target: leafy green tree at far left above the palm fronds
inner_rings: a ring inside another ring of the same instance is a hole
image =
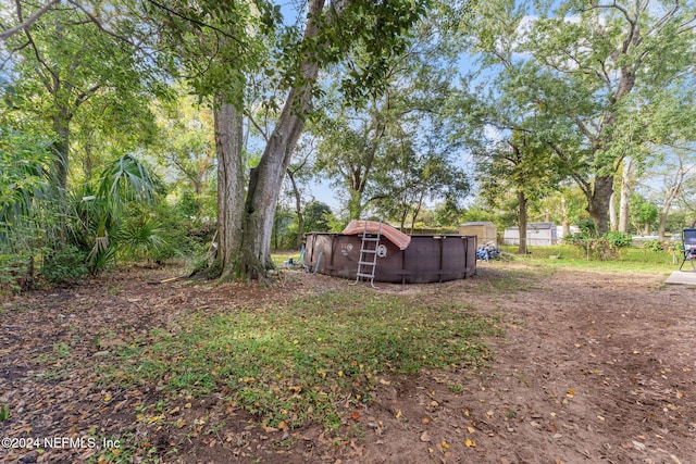
[[[133,20],[133,18],[130,18]],[[48,9],[30,27],[10,37],[5,46],[15,50],[11,83],[12,111],[47,118],[55,134],[55,171],[61,189],[67,186],[72,125],[76,114],[96,96],[113,95],[111,104],[142,113],[149,100],[138,53],[138,28],[128,17],[100,8],[89,12],[70,3]],[[111,27],[116,33],[107,33]],[[148,72],[152,71],[149,68]],[[159,87],[159,85],[156,85]],[[132,117],[122,113],[124,117]]]

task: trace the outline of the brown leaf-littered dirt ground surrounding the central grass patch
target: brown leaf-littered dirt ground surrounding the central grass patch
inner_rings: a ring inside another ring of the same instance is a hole
[[[536,271],[514,290],[485,290],[527,271],[492,263],[472,279],[375,290],[456,294],[497,315],[504,335],[487,341],[494,361],[482,372],[423,372],[380,384],[373,403],[346,412],[362,435],[341,442],[319,427],[264,429],[223,396],[181,411],[191,427],[157,427],[136,421],[139,409],[158,401],[157,386],[99,386],[94,373],[111,351],[154,327],[166,329],[190,311],[185,308],[229,311],[346,280],[296,274],[279,291],[150,286],[175,271],[130,269],[5,300],[0,403],[10,416],[0,422],[0,438],[10,441],[3,440],[0,461],[89,462],[98,455],[90,443],[17,447],[27,437],[129,436],[149,446],[150,456],[175,447],[176,457],[160,462],[182,463],[695,463],[694,288],[663,286],[664,275]],[[220,430],[194,427],[220,416],[226,418]]]

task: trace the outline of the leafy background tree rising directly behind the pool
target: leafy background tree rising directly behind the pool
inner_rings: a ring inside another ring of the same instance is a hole
[[[399,198],[412,203],[415,200],[412,196],[406,199],[407,185],[414,188],[419,175],[415,166],[409,168],[408,164],[417,158],[425,163],[423,160],[431,156],[432,162],[434,151],[439,150],[440,161],[447,159],[447,165],[452,164],[450,156],[456,143],[446,140],[447,130],[451,129],[446,106],[456,63],[449,35],[437,21],[440,17],[428,17],[419,24],[407,52],[386,63],[384,91],[378,96],[363,100],[358,106],[347,106],[346,96],[337,85],[326,91],[322,101],[324,114],[313,127],[322,140],[316,168],[344,193],[350,218],[360,218],[371,203],[381,203],[388,213],[384,206],[396,198],[397,190]],[[426,140],[428,134],[433,137]],[[440,143],[438,148],[434,148],[435,138]],[[390,171],[398,163],[402,168]],[[431,185],[424,187],[431,191],[419,192],[431,196],[434,184],[442,180],[431,176]],[[417,193],[415,189],[411,193]],[[396,216],[405,212],[400,208]]]

